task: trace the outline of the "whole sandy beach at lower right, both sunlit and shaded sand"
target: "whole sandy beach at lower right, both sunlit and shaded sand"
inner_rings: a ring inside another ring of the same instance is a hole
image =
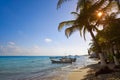
[[[68,74],[68,80],[120,80],[120,71],[95,76],[95,71],[99,68],[99,64],[78,68]]]

